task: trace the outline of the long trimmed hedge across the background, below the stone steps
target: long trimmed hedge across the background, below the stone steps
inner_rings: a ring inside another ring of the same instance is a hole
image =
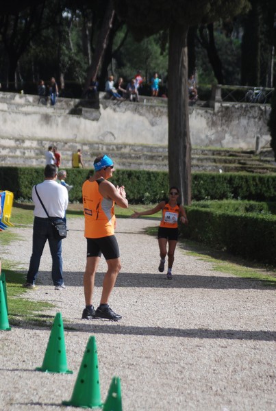
[[[67,182],[73,185],[69,198],[81,201],[81,185],[88,169],[67,169]],[[43,168],[0,167],[0,188],[14,192],[15,199],[30,199],[32,186],[43,180]],[[116,170],[114,185],[125,186],[131,203],[156,203],[168,192],[168,173],[162,171]],[[192,199],[247,199],[273,201],[276,175],[251,173],[192,173]]]

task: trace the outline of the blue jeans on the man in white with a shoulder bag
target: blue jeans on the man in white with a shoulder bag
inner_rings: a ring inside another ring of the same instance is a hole
[[[60,221],[57,217],[52,217],[53,221]],[[52,279],[55,286],[63,284],[62,277],[62,240],[56,240],[53,237],[53,229],[49,219],[40,219],[34,217],[33,228],[33,251],[29,261],[29,271],[27,273],[27,282],[34,283],[38,276],[40,258],[45,246],[49,241],[49,247],[52,256]]]

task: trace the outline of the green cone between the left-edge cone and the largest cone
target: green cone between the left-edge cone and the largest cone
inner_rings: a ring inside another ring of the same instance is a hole
[[[55,314],[43,364],[41,367],[37,367],[36,370],[45,373],[73,374],[73,371],[69,371],[67,368],[61,312]]]

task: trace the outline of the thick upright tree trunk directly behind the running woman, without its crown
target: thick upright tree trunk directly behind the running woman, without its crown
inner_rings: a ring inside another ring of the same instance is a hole
[[[170,186],[179,187],[181,201],[190,204],[191,144],[188,108],[188,24],[174,23],[168,47],[168,171]]]

